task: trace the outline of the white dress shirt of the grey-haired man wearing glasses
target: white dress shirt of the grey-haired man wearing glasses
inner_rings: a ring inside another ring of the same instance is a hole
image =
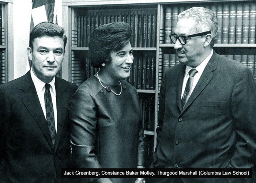
[[[208,64],[208,62],[210,61],[210,58],[213,54],[213,50],[211,50],[211,53],[210,55],[204,59],[204,61],[201,62],[201,64],[199,64],[195,69],[197,70],[197,73],[196,75],[194,76],[194,80],[193,80],[193,83],[192,83],[192,89],[191,89],[191,92],[188,96],[188,98],[190,97],[190,95],[192,94],[197,82],[199,81],[200,77],[202,76],[202,73],[204,71],[204,68],[206,67],[206,65]],[[184,75],[184,79],[183,79],[183,84],[182,84],[182,91],[181,91],[181,98],[183,96],[183,93],[185,91],[185,87],[186,87],[186,84],[187,84],[187,81],[188,81],[188,78],[189,78],[189,70],[193,69],[191,66],[188,66],[186,67],[185,69],[185,75]]]

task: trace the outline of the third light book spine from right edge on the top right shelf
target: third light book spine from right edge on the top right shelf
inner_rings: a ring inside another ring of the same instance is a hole
[[[236,13],[236,43],[242,43],[242,4],[237,4]]]

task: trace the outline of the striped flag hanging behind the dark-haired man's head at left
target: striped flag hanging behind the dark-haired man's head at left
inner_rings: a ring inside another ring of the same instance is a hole
[[[61,0],[32,0],[30,32],[40,22],[53,22],[61,26],[62,22]],[[30,70],[28,61],[26,72]]]

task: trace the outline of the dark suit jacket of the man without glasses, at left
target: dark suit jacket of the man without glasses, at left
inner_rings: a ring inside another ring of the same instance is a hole
[[[55,147],[30,72],[0,85],[0,182],[58,182],[69,167],[68,102],[77,86],[56,77]]]

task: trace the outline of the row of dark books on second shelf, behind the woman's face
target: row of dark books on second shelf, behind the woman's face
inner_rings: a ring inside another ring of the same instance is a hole
[[[147,54],[134,55],[130,76],[125,79],[136,89],[155,89],[155,56]],[[71,81],[80,85],[97,73],[98,68],[90,65],[89,58],[78,58],[72,54]]]

